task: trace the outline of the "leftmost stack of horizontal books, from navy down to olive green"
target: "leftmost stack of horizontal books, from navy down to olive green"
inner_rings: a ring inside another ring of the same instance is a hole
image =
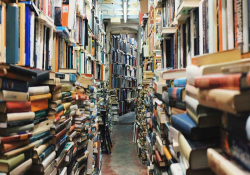
[[[28,83],[4,77],[0,77],[0,82],[0,172],[24,173],[32,165],[28,147],[35,118]]]

